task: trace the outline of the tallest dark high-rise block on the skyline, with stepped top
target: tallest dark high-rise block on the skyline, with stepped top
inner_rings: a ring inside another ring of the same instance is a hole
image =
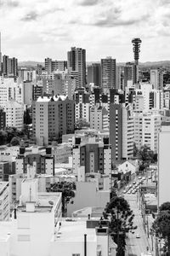
[[[69,71],[78,72],[78,87],[86,85],[86,49],[71,47],[67,53]]]

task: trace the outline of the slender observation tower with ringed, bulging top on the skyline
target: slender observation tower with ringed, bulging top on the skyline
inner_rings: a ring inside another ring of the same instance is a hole
[[[134,67],[133,67],[133,81],[134,83],[138,83],[139,81],[139,52],[140,52],[140,44],[142,40],[140,38],[133,38],[133,54],[134,54]]]

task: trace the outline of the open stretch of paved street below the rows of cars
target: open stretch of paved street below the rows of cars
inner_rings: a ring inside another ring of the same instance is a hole
[[[143,219],[137,203],[137,195],[124,195],[124,198],[130,204],[131,209],[135,215],[133,219],[134,225],[138,226],[134,234],[129,233],[127,238],[127,255],[128,256],[140,256],[140,253],[146,253],[146,247],[150,247],[147,239],[147,234],[144,232]],[[136,238],[136,234],[140,235],[140,238]]]

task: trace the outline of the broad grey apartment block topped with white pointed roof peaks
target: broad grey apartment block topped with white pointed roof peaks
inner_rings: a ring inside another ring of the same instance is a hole
[[[74,132],[74,101],[68,96],[42,96],[32,103],[32,132],[37,145],[48,145]]]

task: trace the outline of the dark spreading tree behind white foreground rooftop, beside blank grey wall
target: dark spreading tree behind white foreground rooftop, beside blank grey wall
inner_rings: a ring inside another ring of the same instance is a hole
[[[61,192],[62,193],[62,213],[63,216],[65,216],[65,213],[67,212],[67,204],[73,203],[71,201],[72,198],[75,197],[74,190],[76,189],[75,183],[70,182],[58,182],[51,184],[50,188],[47,189],[48,192]]]

